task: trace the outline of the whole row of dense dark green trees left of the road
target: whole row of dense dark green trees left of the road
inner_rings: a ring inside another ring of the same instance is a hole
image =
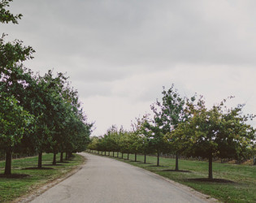
[[[22,15],[12,15],[0,2],[0,22],[18,24]],[[67,154],[85,150],[93,123],[88,123],[78,93],[63,73],[33,74],[24,61],[33,58],[33,48],[22,41],[0,38],[0,149],[6,153],[5,175],[11,175],[11,153]]]

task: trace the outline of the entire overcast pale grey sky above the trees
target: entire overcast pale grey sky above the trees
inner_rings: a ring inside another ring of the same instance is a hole
[[[182,96],[228,96],[256,114],[254,0],[14,0],[19,25],[0,25],[8,40],[33,46],[26,63],[41,75],[67,72],[93,135],[151,113],[163,86]]]

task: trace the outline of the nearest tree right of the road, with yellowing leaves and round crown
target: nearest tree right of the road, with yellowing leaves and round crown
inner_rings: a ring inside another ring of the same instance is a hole
[[[177,127],[180,140],[190,145],[190,155],[208,158],[209,179],[213,179],[213,158],[245,158],[256,140],[255,129],[246,124],[254,115],[242,115],[243,105],[228,109],[225,102],[207,110],[201,99],[190,106],[193,117]]]

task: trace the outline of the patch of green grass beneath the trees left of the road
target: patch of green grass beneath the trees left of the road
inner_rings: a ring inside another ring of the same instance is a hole
[[[33,158],[20,158],[12,160],[12,174],[25,174],[29,175],[25,178],[11,179],[0,178],[0,202],[10,202],[15,198],[24,196],[32,192],[35,188],[58,179],[59,177],[72,171],[74,168],[84,162],[84,158],[80,155],[74,154],[74,158],[67,162],[57,163],[58,166],[50,166],[53,159],[53,154],[43,154],[43,167],[50,167],[49,170],[24,170],[28,167],[37,166],[37,157]],[[57,155],[59,161],[59,156]],[[0,173],[4,172],[5,162],[0,162]]]

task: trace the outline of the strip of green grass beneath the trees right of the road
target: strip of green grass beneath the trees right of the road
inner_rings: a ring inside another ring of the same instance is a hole
[[[116,155],[117,153],[115,153],[115,157]],[[124,158],[127,158],[127,154],[124,154]],[[256,166],[214,162],[214,179],[228,179],[234,183],[209,183],[192,181],[192,179],[207,178],[208,162],[179,160],[179,169],[188,172],[176,172],[170,171],[175,170],[175,159],[172,158],[160,158],[161,166],[155,166],[157,158],[150,156],[147,156],[146,164],[143,163],[144,156],[141,155],[137,156],[137,162],[134,162],[132,154],[129,156],[129,161],[121,159],[121,153],[117,159],[187,185],[210,197],[215,197],[219,201],[256,202]]]

